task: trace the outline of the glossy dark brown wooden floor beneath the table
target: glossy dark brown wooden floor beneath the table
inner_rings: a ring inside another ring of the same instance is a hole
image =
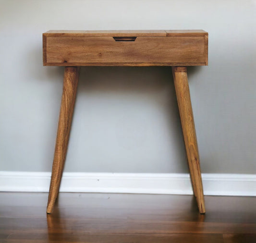
[[[0,242],[256,243],[256,197],[0,193]]]

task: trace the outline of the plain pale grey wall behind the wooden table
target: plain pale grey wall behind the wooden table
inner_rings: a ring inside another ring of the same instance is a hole
[[[255,1],[1,0],[0,170],[50,171],[63,68],[49,29],[204,29],[188,69],[204,173],[256,173]],[[170,67],[81,70],[65,171],[187,172]]]

